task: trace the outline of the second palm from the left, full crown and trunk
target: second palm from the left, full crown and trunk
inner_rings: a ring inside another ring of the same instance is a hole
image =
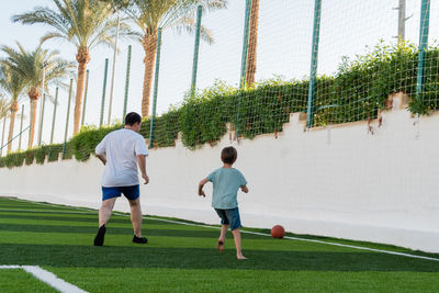
[[[19,50],[9,46],[0,47],[7,57],[1,64],[8,67],[14,75],[24,79],[25,89],[31,103],[31,136],[29,147],[32,147],[35,134],[36,102],[41,97],[40,88],[44,86],[47,91],[52,81],[57,81],[69,74],[72,64],[58,57],[57,50],[48,50],[42,48],[40,44],[36,49],[26,52],[19,43]],[[43,70],[45,70],[45,82],[42,84]]]

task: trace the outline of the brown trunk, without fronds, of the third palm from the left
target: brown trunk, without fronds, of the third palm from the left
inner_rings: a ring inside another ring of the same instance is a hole
[[[82,92],[86,80],[87,64],[90,61],[90,52],[86,46],[78,48],[76,55],[78,61],[78,80],[76,83],[76,98],[75,98],[75,116],[74,116],[74,134],[79,131],[79,123],[81,120],[81,104],[82,104]]]

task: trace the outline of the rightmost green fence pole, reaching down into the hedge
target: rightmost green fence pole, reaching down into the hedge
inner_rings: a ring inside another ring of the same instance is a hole
[[[421,98],[424,88],[424,61],[428,47],[428,29],[430,24],[430,0],[421,0],[420,4],[420,25],[419,25],[419,55],[418,72],[416,82],[416,97]]]

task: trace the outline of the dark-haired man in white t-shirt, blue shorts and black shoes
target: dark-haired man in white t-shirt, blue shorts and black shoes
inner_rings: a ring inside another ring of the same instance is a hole
[[[133,224],[133,243],[146,244],[142,237],[140,191],[138,185],[137,164],[145,184],[149,182],[146,174],[146,156],[148,149],[140,131],[142,117],[137,113],[128,113],[123,129],[109,133],[95,147],[97,157],[105,169],[102,177],[102,205],[99,210],[99,230],[94,246],[102,246],[106,223],[110,219],[114,203],[121,193],[130,201],[131,222]]]

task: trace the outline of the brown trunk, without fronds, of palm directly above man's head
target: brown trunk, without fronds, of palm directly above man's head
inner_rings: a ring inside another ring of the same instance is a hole
[[[153,86],[154,67],[157,53],[157,32],[147,33],[142,40],[142,46],[145,50],[145,75],[144,90],[142,95],[142,116],[148,116],[149,113],[149,97]]]

